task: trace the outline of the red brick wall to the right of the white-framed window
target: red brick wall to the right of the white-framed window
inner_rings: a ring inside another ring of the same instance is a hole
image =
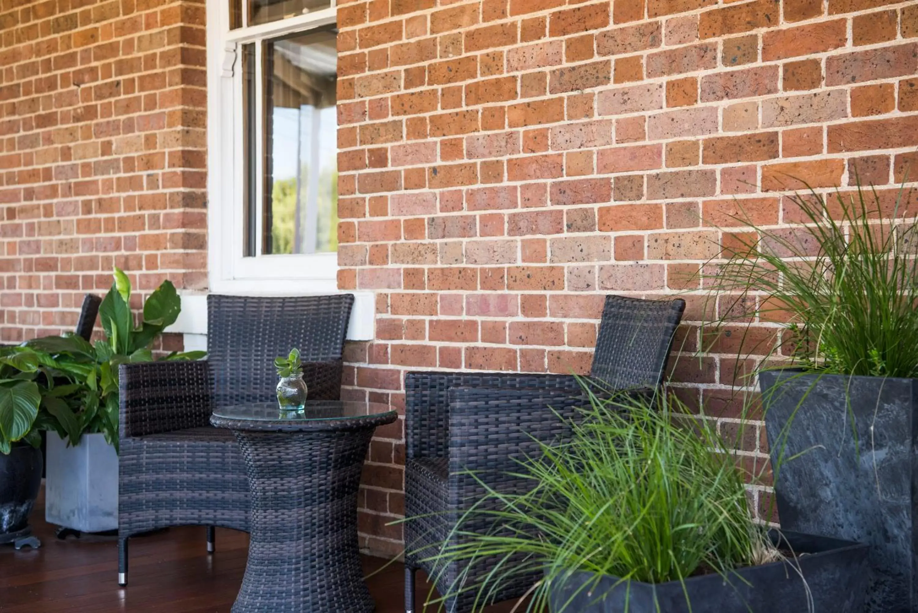
[[[378,296],[355,395],[403,403],[407,369],[586,371],[602,294],[687,289],[741,205],[789,221],[789,176],[891,187],[918,157],[913,0],[339,4],[339,285]],[[674,373],[725,433],[731,350]],[[401,437],[372,449],[376,551],[400,539]]]

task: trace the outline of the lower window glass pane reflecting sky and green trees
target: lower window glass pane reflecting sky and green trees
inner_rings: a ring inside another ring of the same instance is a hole
[[[338,250],[335,39],[265,43],[263,254]]]

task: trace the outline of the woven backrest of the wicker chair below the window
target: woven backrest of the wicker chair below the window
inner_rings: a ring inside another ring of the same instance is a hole
[[[274,358],[300,350],[303,362],[340,360],[353,294],[299,297],[207,296],[207,360],[216,406],[274,399]]]

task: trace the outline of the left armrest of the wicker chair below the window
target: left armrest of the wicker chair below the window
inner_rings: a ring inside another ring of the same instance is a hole
[[[122,364],[119,437],[143,437],[207,426],[213,412],[206,361]]]

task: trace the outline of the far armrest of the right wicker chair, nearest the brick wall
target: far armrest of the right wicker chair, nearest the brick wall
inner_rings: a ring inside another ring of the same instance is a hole
[[[573,391],[570,375],[519,372],[420,372],[405,375],[406,451],[409,458],[446,458],[450,448],[450,399],[453,387],[501,387]]]

